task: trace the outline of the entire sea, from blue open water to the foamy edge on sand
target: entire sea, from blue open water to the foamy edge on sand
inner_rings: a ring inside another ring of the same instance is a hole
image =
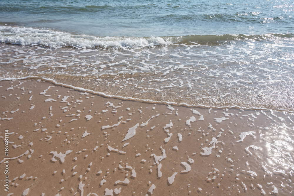
[[[293,1],[1,1],[0,79],[294,112]]]

